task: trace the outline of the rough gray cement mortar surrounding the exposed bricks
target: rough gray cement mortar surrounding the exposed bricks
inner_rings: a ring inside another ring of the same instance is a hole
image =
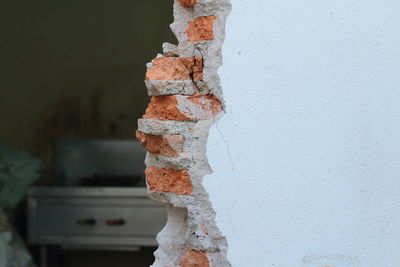
[[[203,81],[146,81],[149,95],[214,94],[222,103],[223,95],[218,76],[222,65],[221,47],[225,36],[225,23],[230,13],[229,0],[199,0],[193,8],[182,7],[174,0],[174,22],[171,29],[178,45],[163,44],[163,56],[202,57]],[[188,42],[185,30],[188,22],[201,16],[216,16],[214,40]],[[147,64],[150,68],[152,63]],[[138,129],[156,135],[179,134],[184,137],[184,149],[178,157],[165,157],[147,153],[146,165],[169,169],[186,169],[193,185],[192,195],[177,195],[149,191],[149,196],[166,204],[168,222],[158,234],[159,248],[154,253],[153,267],[178,267],[187,249],[207,252],[211,267],[229,267],[226,258],[228,244],[215,221],[215,211],[209,195],[202,185],[203,177],[212,172],[207,160],[207,139],[210,127],[217,118],[198,122],[159,121],[140,119]]]

